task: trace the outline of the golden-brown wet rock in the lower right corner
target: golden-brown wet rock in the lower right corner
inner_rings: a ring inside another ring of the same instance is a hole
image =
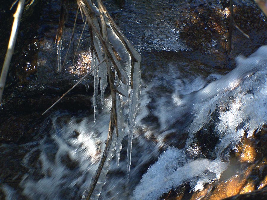
[[[231,153],[230,165],[218,182],[206,184],[202,191],[194,193],[190,192],[189,184],[184,184],[164,194],[160,199],[265,199],[267,186],[265,137],[266,125],[262,126],[253,137],[244,138],[238,145],[238,150]],[[205,143],[207,146],[212,141],[205,139]],[[205,149],[205,145],[200,146]]]

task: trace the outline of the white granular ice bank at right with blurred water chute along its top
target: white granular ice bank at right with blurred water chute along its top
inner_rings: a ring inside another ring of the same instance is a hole
[[[133,199],[159,199],[183,183],[190,182],[193,191],[202,190],[206,183],[220,178],[227,168],[229,152],[235,149],[248,132],[251,137],[261,124],[267,121],[267,46],[260,47],[248,58],[237,57],[237,67],[196,92],[192,113],[195,116],[189,126],[185,148],[168,148],[142,177],[133,192]],[[251,75],[251,73],[255,73]],[[225,84],[223,84],[225,83]],[[228,106],[228,109],[220,108]],[[219,122],[214,134],[219,137],[213,150],[214,160],[194,159],[201,153],[194,149],[194,135],[211,114],[219,112]],[[222,161],[223,160],[223,161]]]

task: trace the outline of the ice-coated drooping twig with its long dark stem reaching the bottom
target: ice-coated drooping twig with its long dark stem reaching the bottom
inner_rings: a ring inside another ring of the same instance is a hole
[[[95,76],[95,92],[94,96],[96,97],[97,89],[96,81],[100,79],[100,89],[101,89],[101,102],[104,103],[104,90],[106,83],[104,83],[107,73],[109,77],[109,86],[111,91],[112,107],[110,113],[110,122],[109,122],[109,132],[106,147],[100,161],[96,176],[88,188],[88,195],[86,199],[90,199],[93,194],[96,184],[99,185],[98,188],[102,187],[103,181],[98,183],[98,179],[101,175],[101,170],[105,165],[105,160],[107,156],[113,156],[114,151],[112,150],[111,141],[113,138],[113,131],[116,129],[117,141],[116,141],[116,154],[117,154],[117,164],[119,163],[119,156],[121,150],[121,141],[124,136],[124,119],[122,115],[122,107],[120,102],[120,95],[122,95],[123,100],[129,99],[129,108],[128,108],[128,126],[129,126],[129,136],[128,136],[128,176],[131,164],[131,145],[133,138],[133,128],[135,125],[136,114],[140,106],[140,93],[141,93],[141,73],[140,73],[140,62],[141,55],[133,48],[131,43],[123,34],[119,31],[116,24],[113,22],[111,16],[108,14],[107,9],[104,7],[104,4],[101,0],[97,0],[97,5],[91,0],[77,0],[78,7],[80,8],[82,15],[85,15],[87,23],[91,31],[91,38],[93,47],[91,47],[92,54],[95,54],[98,60],[101,60],[101,57],[107,58],[106,65],[101,65],[98,68],[97,73],[94,73]],[[93,58],[95,60],[96,58]],[[93,61],[95,62],[95,61]],[[103,68],[102,68],[103,67]],[[112,68],[115,69],[115,76],[112,72]],[[107,73],[106,73],[107,70]],[[136,76],[136,77],[135,77]],[[104,81],[103,81],[104,78]],[[129,94],[129,80],[131,79],[131,89]],[[103,84],[102,84],[103,81]],[[96,102],[96,98],[94,101]],[[96,104],[94,104],[94,107]],[[96,110],[96,108],[95,108]],[[111,155],[112,154],[112,155]],[[105,176],[106,172],[103,174]],[[103,179],[101,179],[103,180]],[[97,189],[98,190],[98,189]],[[100,191],[95,193],[98,197]],[[87,193],[85,191],[85,193]]]

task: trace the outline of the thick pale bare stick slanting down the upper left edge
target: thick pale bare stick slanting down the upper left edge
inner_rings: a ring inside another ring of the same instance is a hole
[[[7,47],[7,54],[6,54],[6,57],[4,60],[4,64],[3,64],[3,68],[2,68],[2,72],[1,72],[1,77],[0,77],[0,103],[1,103],[2,97],[3,97],[4,87],[5,87],[5,83],[6,83],[6,79],[7,79],[8,68],[9,68],[10,61],[11,61],[11,58],[12,58],[12,55],[14,52],[14,48],[15,48],[15,43],[16,43],[16,39],[17,39],[17,35],[18,35],[18,28],[20,25],[20,19],[22,16],[24,3],[25,3],[25,0],[19,0],[17,10],[16,10],[15,14],[13,15],[14,16],[14,22],[12,25],[12,31],[10,34],[10,39],[9,39],[9,43],[8,43],[8,47]]]

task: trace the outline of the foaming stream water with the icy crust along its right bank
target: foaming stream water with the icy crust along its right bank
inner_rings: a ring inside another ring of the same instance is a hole
[[[190,182],[192,191],[198,191],[205,183],[220,179],[229,164],[229,152],[235,151],[242,137],[251,137],[266,123],[266,55],[267,46],[263,46],[248,58],[238,57],[237,67],[227,75],[210,74],[207,78],[185,78],[177,75],[179,72],[172,76],[172,64],[165,74],[169,84],[158,80],[143,83],[130,179],[124,138],[119,167],[113,159],[99,199],[158,199],[183,183]],[[31,147],[23,158],[23,166],[28,169],[20,183],[24,196],[82,197],[104,150],[110,108],[108,97],[98,108],[97,123],[93,113],[70,116],[55,112],[47,118],[49,131],[38,142],[24,145]],[[201,158],[202,147],[195,135],[214,114],[218,119],[210,132],[214,148]],[[125,122],[125,134],[127,131]],[[2,190],[7,199],[18,195],[8,185]]]

